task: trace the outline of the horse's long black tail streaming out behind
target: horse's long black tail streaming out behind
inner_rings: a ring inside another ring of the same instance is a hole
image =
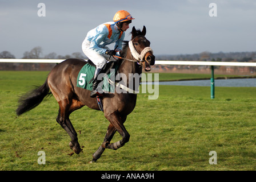
[[[34,90],[30,90],[21,96],[18,100],[18,108],[16,109],[17,115],[21,115],[26,111],[37,107],[42,102],[43,98],[51,94],[49,90],[50,88],[46,80],[42,86],[38,86]]]

